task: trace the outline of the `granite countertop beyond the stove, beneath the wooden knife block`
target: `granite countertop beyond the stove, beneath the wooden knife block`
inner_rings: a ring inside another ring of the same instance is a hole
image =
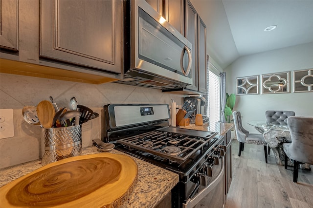
[[[222,136],[228,132],[234,124],[231,123],[204,123],[202,126],[196,126],[195,124],[190,124],[189,126],[180,126],[180,128],[184,129],[192,129],[192,130],[199,130],[199,131],[206,131],[206,132],[218,132]]]

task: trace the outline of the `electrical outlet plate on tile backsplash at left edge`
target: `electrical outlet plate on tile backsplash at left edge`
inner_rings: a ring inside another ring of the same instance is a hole
[[[0,139],[13,136],[13,109],[0,109]]]

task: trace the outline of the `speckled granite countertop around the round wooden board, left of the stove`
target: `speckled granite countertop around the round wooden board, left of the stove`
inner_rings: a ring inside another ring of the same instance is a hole
[[[88,147],[82,150],[82,154],[96,154],[96,147]],[[125,154],[112,150],[110,153]],[[128,154],[126,154],[128,155]],[[130,156],[130,155],[128,155]],[[130,199],[121,208],[152,208],[155,207],[179,182],[179,175],[130,156],[138,166],[138,182]],[[0,170],[0,187],[9,182],[43,167],[41,160],[35,160],[21,165],[12,166]]]

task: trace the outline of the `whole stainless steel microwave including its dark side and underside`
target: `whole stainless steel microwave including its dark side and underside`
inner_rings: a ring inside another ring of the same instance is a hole
[[[124,1],[124,72],[117,82],[158,89],[192,84],[191,50],[145,0]]]

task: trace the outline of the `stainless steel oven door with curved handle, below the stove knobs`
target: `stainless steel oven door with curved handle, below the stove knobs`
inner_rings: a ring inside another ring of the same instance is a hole
[[[214,174],[211,181],[206,181],[207,176],[201,174],[200,184],[207,183],[207,185],[199,185],[198,192],[187,199],[186,203],[183,203],[183,208],[194,208],[194,207],[203,207],[203,205],[210,205],[214,208],[223,208],[224,206],[224,156],[219,157],[221,162],[218,167],[220,171],[217,174]],[[221,166],[220,166],[221,165]],[[212,173],[213,174],[213,173]],[[205,180],[205,181],[204,181]]]

